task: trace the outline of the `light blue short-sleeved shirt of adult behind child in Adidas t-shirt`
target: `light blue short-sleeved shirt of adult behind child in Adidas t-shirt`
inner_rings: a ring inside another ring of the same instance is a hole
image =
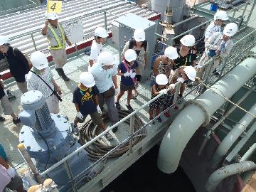
[[[100,66],[100,63],[95,63],[90,68],[90,73],[95,78],[96,87],[102,93],[113,86],[112,76],[117,75],[117,66],[114,65],[114,68],[105,70]]]

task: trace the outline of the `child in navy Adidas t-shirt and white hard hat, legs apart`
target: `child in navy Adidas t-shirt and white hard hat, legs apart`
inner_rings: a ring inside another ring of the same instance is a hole
[[[81,73],[80,84],[73,92],[73,103],[75,104],[75,109],[78,112],[74,120],[75,134],[78,134],[78,132],[76,132],[78,130],[78,122],[84,122],[88,114],[92,118],[92,122],[105,131],[106,126],[100,117],[102,111],[99,106],[97,95],[99,95],[99,90],[95,85],[93,75],[90,72]],[[110,132],[107,132],[105,137],[108,140],[113,139]]]

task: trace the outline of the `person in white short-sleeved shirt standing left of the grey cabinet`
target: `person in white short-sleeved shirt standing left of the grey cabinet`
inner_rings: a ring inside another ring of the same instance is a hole
[[[90,60],[88,70],[94,63],[97,63],[97,58],[99,57],[100,53],[102,52],[102,43],[105,42],[106,38],[108,37],[107,31],[105,28],[97,27],[95,29],[95,39],[92,41],[91,46],[91,53],[90,53]]]

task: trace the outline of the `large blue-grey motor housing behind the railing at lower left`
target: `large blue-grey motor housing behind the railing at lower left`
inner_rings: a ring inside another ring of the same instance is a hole
[[[40,91],[24,93],[21,96],[21,105],[23,112],[20,118],[23,127],[19,142],[24,144],[38,171],[45,171],[80,147],[71,134],[68,119],[60,114],[50,114],[46,99]],[[87,152],[81,151],[68,163],[73,176],[77,176],[89,166]],[[68,183],[68,174],[63,165],[50,171],[48,176],[59,187]],[[68,188],[70,186],[67,185],[61,191],[68,191]]]

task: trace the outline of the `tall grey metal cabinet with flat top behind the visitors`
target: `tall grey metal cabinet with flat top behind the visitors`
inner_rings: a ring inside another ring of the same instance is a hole
[[[156,31],[156,23],[149,21],[146,18],[137,16],[135,14],[126,14],[120,16],[114,20],[112,23],[113,29],[113,41],[117,41],[117,48],[119,49],[119,61],[122,61],[122,50],[127,41],[129,41],[134,34],[135,29],[142,28],[146,33],[146,41],[149,46],[149,66],[145,69],[145,75],[142,75],[142,81],[149,77],[151,69],[151,58],[154,53],[154,48],[156,44],[156,36],[154,32]]]

